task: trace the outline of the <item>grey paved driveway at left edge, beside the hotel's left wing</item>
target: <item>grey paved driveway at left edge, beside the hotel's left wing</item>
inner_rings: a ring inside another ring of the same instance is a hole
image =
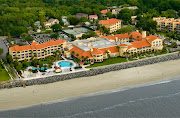
[[[3,54],[1,55],[1,58],[5,59],[6,58],[6,53],[8,53],[8,47],[4,44],[3,39],[7,37],[0,37],[0,48],[3,49]]]

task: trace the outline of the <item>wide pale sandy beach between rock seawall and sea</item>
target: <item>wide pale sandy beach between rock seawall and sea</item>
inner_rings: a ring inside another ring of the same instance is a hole
[[[0,110],[63,100],[83,94],[119,89],[180,75],[180,60],[113,71],[102,75],[26,88],[0,90]]]

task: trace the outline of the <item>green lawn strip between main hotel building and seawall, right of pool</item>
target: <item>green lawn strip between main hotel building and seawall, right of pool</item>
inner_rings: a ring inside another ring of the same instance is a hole
[[[93,65],[88,66],[87,68],[110,65],[110,64],[115,64],[115,63],[122,63],[122,62],[127,62],[126,58],[114,57],[114,58],[106,59],[101,63],[94,63]]]

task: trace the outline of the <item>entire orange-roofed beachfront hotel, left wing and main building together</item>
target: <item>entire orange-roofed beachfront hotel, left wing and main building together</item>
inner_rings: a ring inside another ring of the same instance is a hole
[[[137,53],[151,52],[163,49],[163,40],[154,35],[146,36],[146,31],[138,31],[117,34],[110,36],[101,36],[98,38],[88,38],[76,40],[67,43],[65,40],[50,40],[39,44],[33,42],[31,45],[13,46],[9,48],[9,54],[13,60],[18,61],[45,58],[53,55],[57,50],[63,52],[64,56],[75,57],[83,60],[88,59],[91,62],[102,62],[108,57],[135,55]]]

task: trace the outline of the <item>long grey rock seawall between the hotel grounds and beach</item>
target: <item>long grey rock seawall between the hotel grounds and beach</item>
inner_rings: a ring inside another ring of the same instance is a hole
[[[33,79],[33,80],[11,81],[10,83],[0,85],[0,89],[41,85],[41,84],[48,84],[48,83],[64,81],[64,80],[74,79],[74,78],[79,78],[79,77],[95,76],[95,75],[107,73],[110,71],[117,71],[117,70],[150,65],[150,64],[155,64],[155,63],[169,61],[169,60],[176,60],[176,59],[180,59],[179,52],[145,58],[145,59],[141,59],[137,61],[96,67],[96,68],[90,69],[89,71],[82,71],[82,72],[70,73],[70,74],[65,74],[65,75],[55,75],[51,77],[39,78],[39,79]]]

